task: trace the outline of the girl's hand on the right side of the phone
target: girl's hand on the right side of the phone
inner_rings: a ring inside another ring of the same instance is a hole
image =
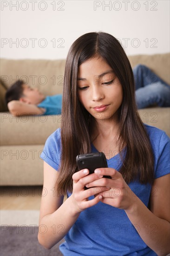
[[[111,179],[100,178],[93,182],[89,182],[86,184],[86,187],[110,187],[110,190],[97,194],[97,196],[102,195],[103,198],[101,199],[101,202],[119,209],[131,209],[137,196],[126,184],[122,175],[113,168],[98,168],[94,172],[96,175],[110,175]]]

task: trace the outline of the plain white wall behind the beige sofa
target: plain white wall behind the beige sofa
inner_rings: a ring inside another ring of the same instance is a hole
[[[0,10],[1,58],[64,59],[92,31],[114,35],[128,55],[170,50],[169,0],[1,0]]]

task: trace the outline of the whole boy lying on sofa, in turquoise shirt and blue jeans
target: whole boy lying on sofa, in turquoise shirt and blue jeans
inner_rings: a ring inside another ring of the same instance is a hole
[[[170,86],[144,65],[133,69],[137,108],[157,104],[170,107]],[[7,90],[6,102],[13,115],[60,115],[62,94],[46,96],[37,88],[17,81]]]

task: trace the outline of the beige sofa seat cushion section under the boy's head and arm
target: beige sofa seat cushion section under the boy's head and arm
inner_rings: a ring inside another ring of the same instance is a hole
[[[61,115],[14,116],[9,112],[0,113],[0,144],[41,145],[62,122]]]

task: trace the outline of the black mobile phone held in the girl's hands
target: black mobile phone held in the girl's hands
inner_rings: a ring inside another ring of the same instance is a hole
[[[97,168],[108,167],[105,154],[103,152],[88,153],[77,155],[76,162],[78,170],[89,169],[89,174],[94,173]],[[105,178],[111,179],[111,176],[104,175]]]

